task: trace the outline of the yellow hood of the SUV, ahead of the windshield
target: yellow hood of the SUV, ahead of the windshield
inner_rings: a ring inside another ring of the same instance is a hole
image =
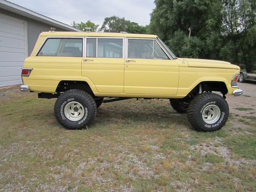
[[[221,68],[221,69],[240,69],[239,66],[232,65],[230,62],[221,60],[210,59],[190,59],[190,58],[178,58],[181,62],[184,60],[187,62],[188,67],[197,68]]]

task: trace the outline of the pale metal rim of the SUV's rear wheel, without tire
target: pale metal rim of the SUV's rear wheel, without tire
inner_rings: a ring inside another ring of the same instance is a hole
[[[84,108],[81,103],[69,102],[64,109],[65,116],[71,121],[79,121],[84,115]]]

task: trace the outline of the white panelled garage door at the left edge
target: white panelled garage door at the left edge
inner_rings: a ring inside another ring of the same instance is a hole
[[[0,14],[0,87],[21,84],[21,68],[27,57],[27,24]]]

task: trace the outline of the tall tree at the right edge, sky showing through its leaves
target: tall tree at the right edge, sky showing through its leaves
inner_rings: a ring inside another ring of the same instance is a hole
[[[247,72],[256,63],[256,1],[223,0],[223,48],[220,55],[244,64]]]

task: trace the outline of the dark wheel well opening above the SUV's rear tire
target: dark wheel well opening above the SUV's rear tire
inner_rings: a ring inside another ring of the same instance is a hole
[[[61,93],[68,91],[70,89],[80,89],[90,93],[92,96],[95,96],[89,84],[86,81],[68,81],[62,80],[59,82],[56,92]]]

